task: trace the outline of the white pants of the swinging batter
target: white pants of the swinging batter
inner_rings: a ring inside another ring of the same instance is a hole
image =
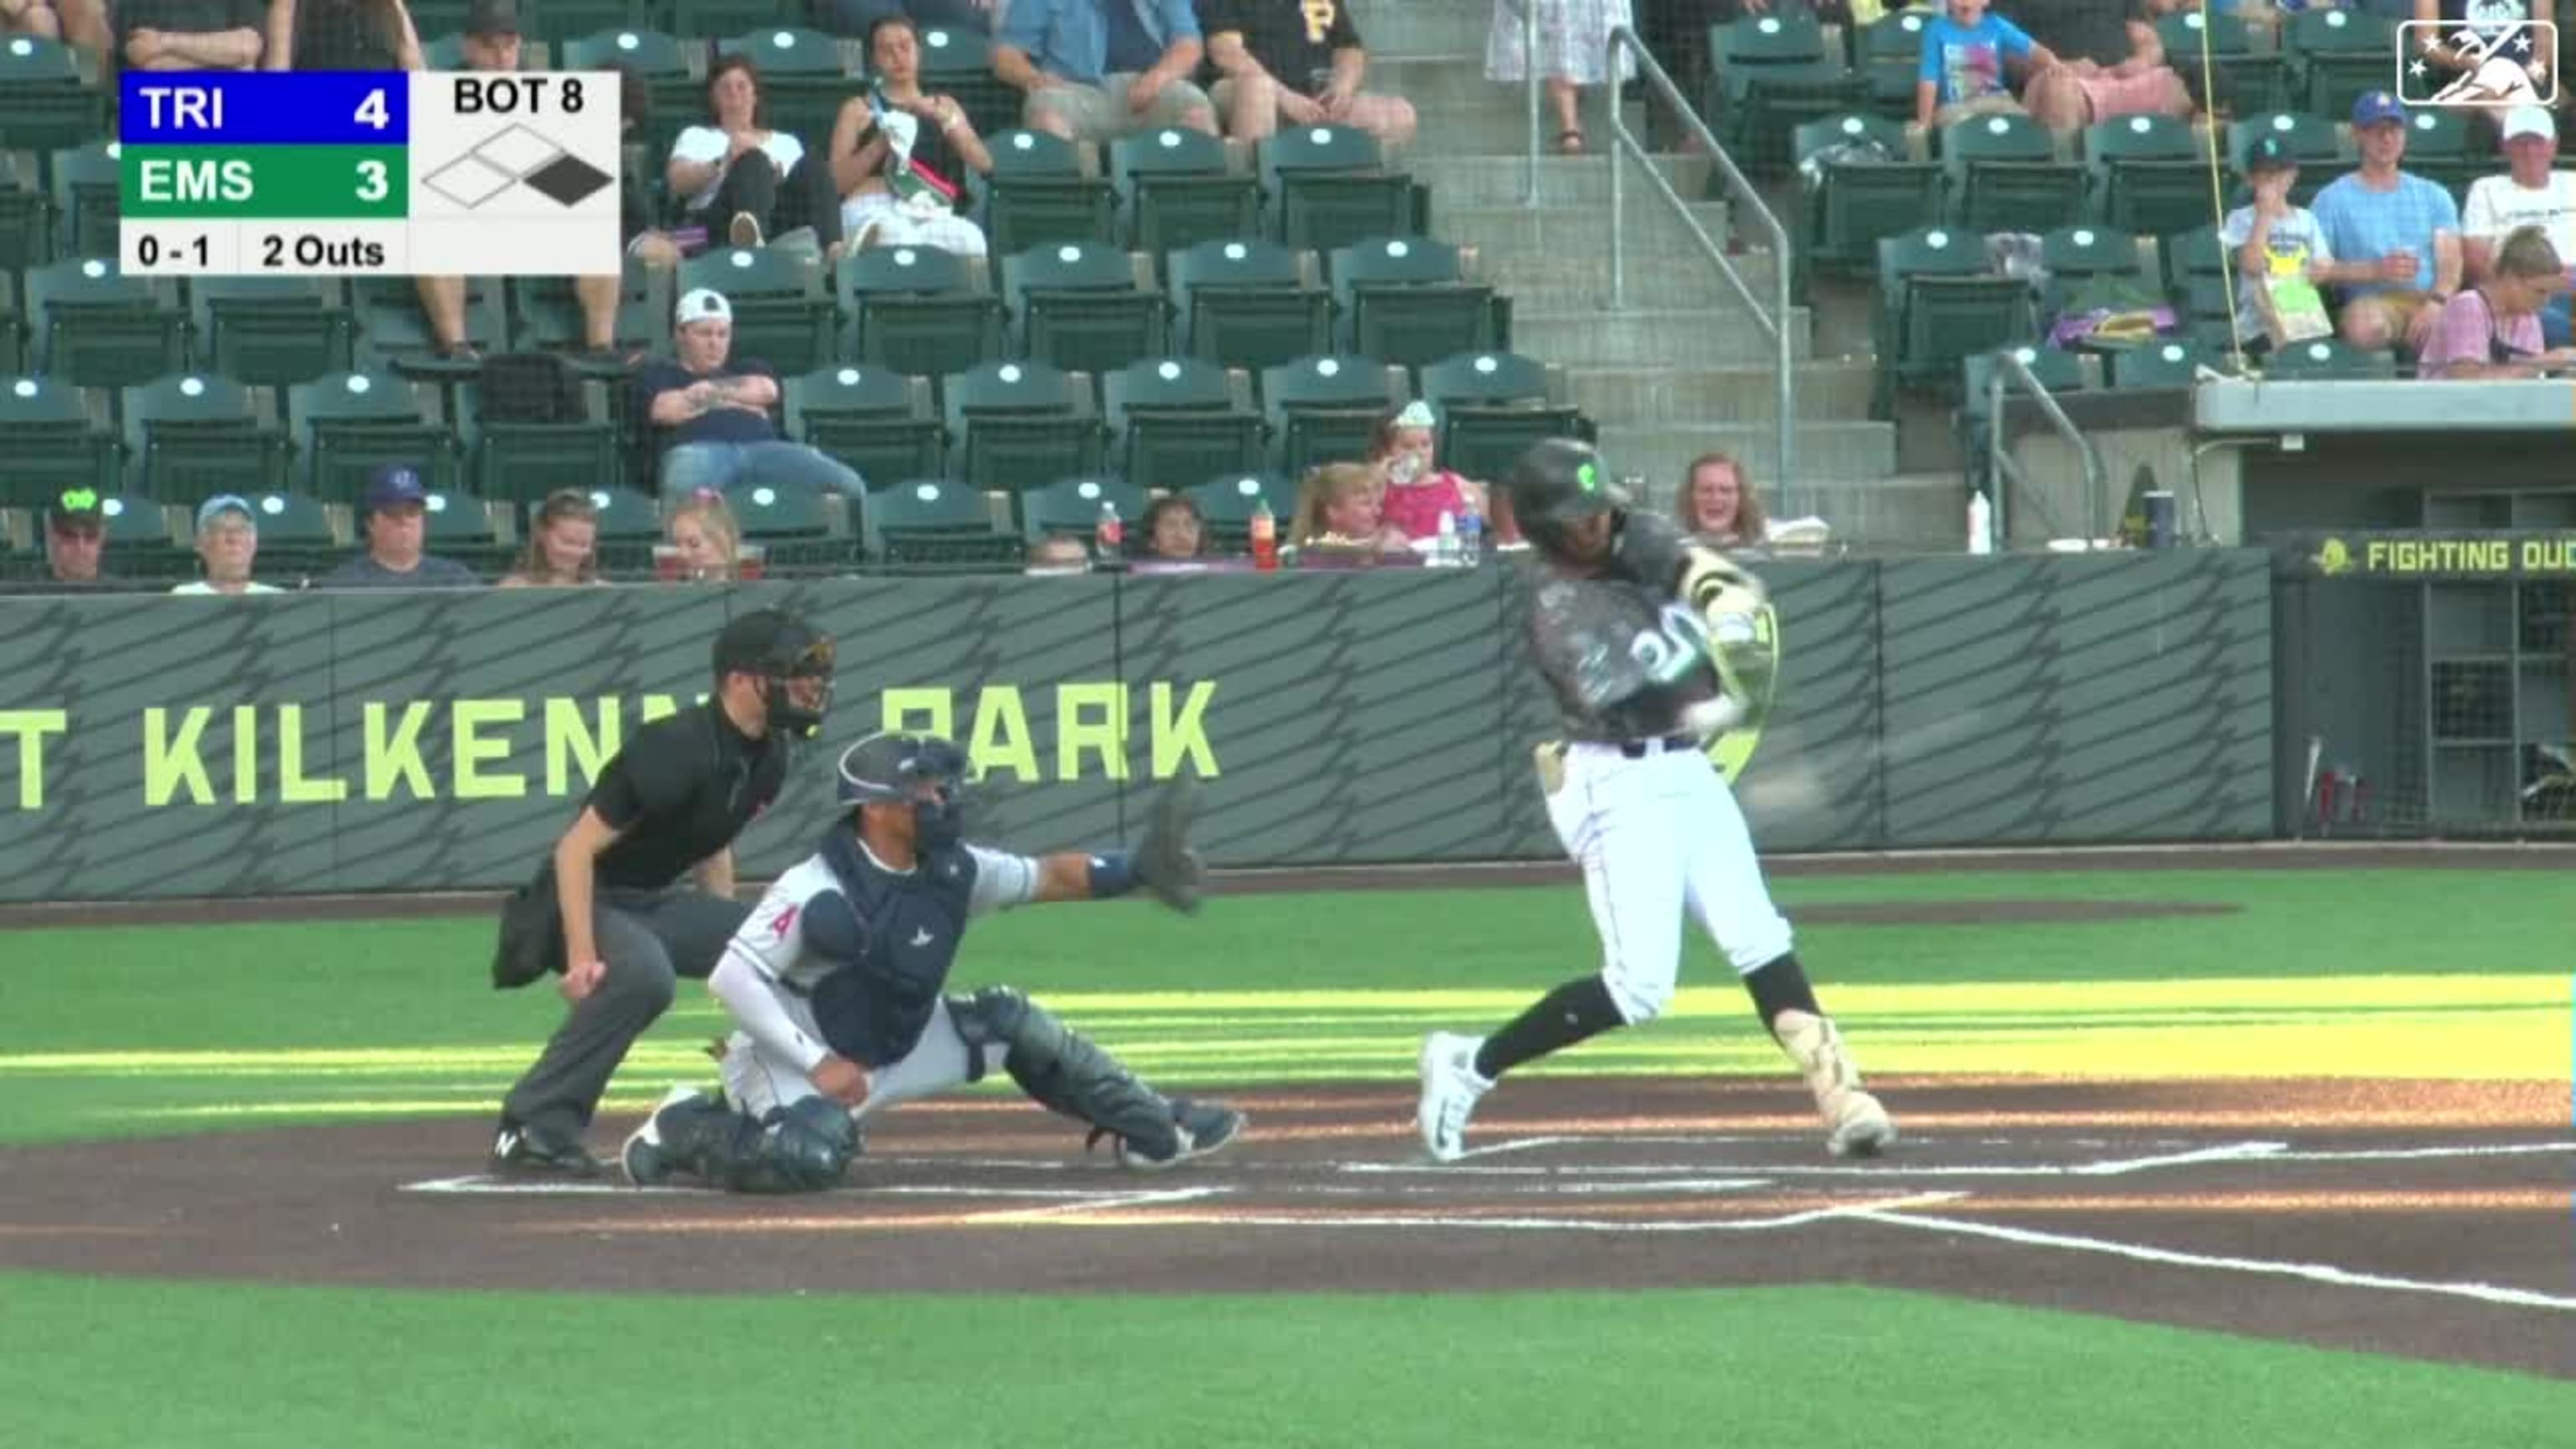
[[[1788,920],[1762,884],[1744,810],[1695,745],[1654,743],[1643,758],[1569,745],[1548,822],[1584,869],[1602,982],[1631,1026],[1672,1000],[1685,910],[1739,977],[1788,954]]]

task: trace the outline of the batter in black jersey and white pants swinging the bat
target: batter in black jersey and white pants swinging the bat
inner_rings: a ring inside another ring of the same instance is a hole
[[[1538,547],[1530,647],[1566,740],[1538,748],[1548,820],[1584,869],[1602,969],[1538,998],[1492,1036],[1422,1042],[1422,1145],[1466,1150],[1476,1101],[1512,1067],[1654,1018],[1672,1000],[1687,913],[1806,1075],[1834,1155],[1873,1155],[1896,1124],[1790,951],[1744,812],[1703,753],[1770,699],[1762,583],[1677,526],[1628,511],[1589,446],[1548,441],[1512,464],[1512,513]]]

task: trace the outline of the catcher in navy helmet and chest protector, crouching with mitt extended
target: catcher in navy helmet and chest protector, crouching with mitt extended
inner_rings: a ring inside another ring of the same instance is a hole
[[[732,1191],[837,1186],[866,1119],[994,1067],[1110,1140],[1126,1168],[1221,1150],[1244,1114],[1164,1098],[1015,987],[943,995],[966,923],[1054,900],[1146,890],[1198,910],[1190,797],[1170,786],[1133,853],[1012,856],[961,838],[966,755],[933,735],[871,735],[840,755],[850,817],[752,908],[708,987],[739,1026],[724,1096],[672,1088],[626,1140],[626,1176]]]

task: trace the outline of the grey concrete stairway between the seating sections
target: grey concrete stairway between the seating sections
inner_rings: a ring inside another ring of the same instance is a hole
[[[1901,474],[1896,425],[1868,418],[1865,327],[1855,333],[1847,317],[1821,320],[1806,307],[1790,315],[1798,459],[1795,480],[1780,487],[1777,345],[1636,170],[1623,199],[1625,307],[1610,307],[1610,137],[1600,93],[1587,95],[1592,155],[1546,155],[1538,206],[1528,206],[1525,93],[1484,77],[1492,0],[1355,8],[1368,85],[1409,98],[1422,116],[1404,165],[1432,188],[1432,229],[1476,248],[1481,276],[1512,297],[1512,348],[1566,369],[1623,474],[1669,498],[1692,456],[1726,451],[1752,469],[1775,516],[1821,513],[1855,544],[1955,547],[1958,474]],[[1628,124],[1643,134],[1636,108]],[[1705,157],[1662,155],[1656,170],[1685,199],[1710,196]],[[1692,214],[1710,237],[1728,240],[1726,204],[1695,201]],[[1731,260],[1767,307],[1777,258],[1752,248]]]

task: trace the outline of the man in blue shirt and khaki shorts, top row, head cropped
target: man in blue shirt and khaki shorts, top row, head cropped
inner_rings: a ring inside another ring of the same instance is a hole
[[[1190,83],[1203,57],[1190,0],[1010,0],[992,41],[992,72],[1028,98],[1023,124],[1069,142],[1213,137],[1216,106]]]

